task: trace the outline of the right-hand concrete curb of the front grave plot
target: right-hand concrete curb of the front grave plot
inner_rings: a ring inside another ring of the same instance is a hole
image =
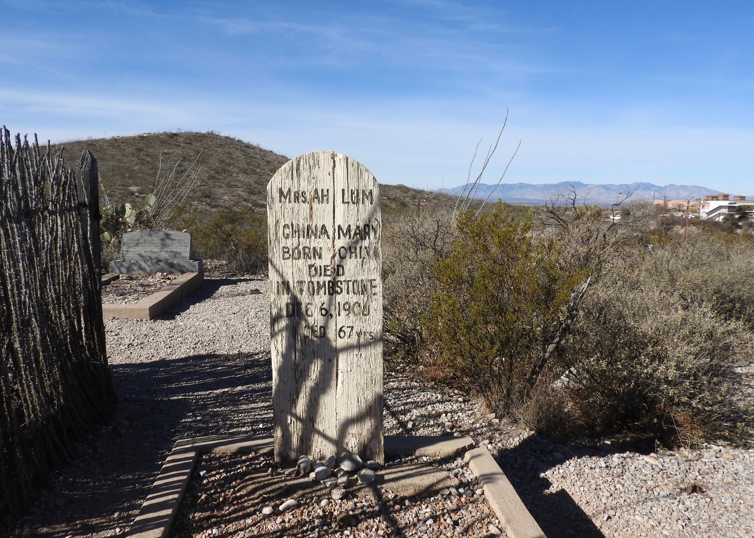
[[[464,460],[477,475],[489,506],[495,510],[510,538],[547,538],[486,448],[467,451]]]

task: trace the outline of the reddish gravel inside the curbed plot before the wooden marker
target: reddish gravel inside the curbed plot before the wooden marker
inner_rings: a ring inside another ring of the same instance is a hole
[[[395,465],[413,461],[406,458]],[[427,460],[422,458],[422,460]],[[435,466],[452,469],[465,477],[466,464],[458,460],[439,461]],[[254,476],[277,475],[290,480],[276,468],[271,457],[254,454],[218,456],[200,460],[185,500],[173,525],[173,538],[211,536],[495,536],[500,522],[489,509],[481,490],[443,490],[426,499],[393,497],[376,489],[345,492],[314,488],[293,497],[257,497],[245,490]],[[290,499],[294,502],[291,503]],[[293,505],[287,508],[288,504]],[[503,534],[504,536],[504,534]]]

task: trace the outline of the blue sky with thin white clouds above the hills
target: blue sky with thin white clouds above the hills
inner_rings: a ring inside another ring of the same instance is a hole
[[[0,0],[0,124],[54,142],[215,130],[381,182],[754,195],[750,2]]]

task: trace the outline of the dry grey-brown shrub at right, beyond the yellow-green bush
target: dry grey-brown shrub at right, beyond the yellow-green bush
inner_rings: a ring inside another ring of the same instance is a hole
[[[553,370],[562,375],[546,392],[559,412],[529,408],[532,423],[561,433],[632,431],[690,444],[729,435],[748,420],[737,405],[737,366],[751,361],[754,339],[742,316],[728,315],[712,292],[730,275],[709,274],[709,289],[700,289],[694,273],[716,265],[715,257],[690,249],[670,243],[611,261]]]

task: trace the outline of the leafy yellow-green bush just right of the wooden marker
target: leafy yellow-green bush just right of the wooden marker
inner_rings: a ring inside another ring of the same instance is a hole
[[[437,292],[423,322],[446,367],[507,413],[568,332],[587,271],[564,271],[557,243],[532,237],[531,213],[518,219],[504,203],[460,212],[457,225],[450,255],[435,264]]]

